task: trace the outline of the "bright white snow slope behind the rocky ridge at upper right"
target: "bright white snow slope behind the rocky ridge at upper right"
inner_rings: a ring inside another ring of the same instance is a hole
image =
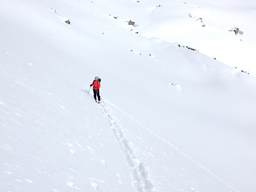
[[[216,57],[231,67],[256,71],[252,64],[256,61],[253,53],[256,39],[253,37],[255,15],[251,4],[249,1],[241,5],[226,3],[232,5],[232,9],[224,6],[225,1],[165,2],[150,10],[150,21],[139,32],[147,37],[196,47],[201,53]],[[245,5],[248,7],[244,8]],[[238,26],[241,32],[233,35],[228,32],[232,28],[226,30],[230,26]]]

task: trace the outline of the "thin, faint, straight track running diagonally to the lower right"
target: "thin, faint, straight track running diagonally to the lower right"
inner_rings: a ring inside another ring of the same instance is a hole
[[[231,188],[232,190],[239,192],[238,189],[233,187],[232,183],[228,183],[225,180],[219,178],[218,176],[216,176],[214,173],[212,173],[203,163],[193,159],[191,156],[189,156],[188,154],[184,153],[182,150],[180,150],[180,148],[178,148],[177,146],[175,146],[173,143],[170,143],[169,141],[166,141],[165,139],[163,139],[162,137],[160,137],[159,135],[157,135],[156,133],[154,133],[153,131],[151,131],[150,129],[148,129],[147,127],[145,127],[143,124],[141,124],[139,121],[137,121],[136,119],[134,119],[133,117],[131,117],[130,115],[128,115],[127,113],[125,113],[124,111],[122,111],[121,109],[119,109],[116,105],[114,105],[112,102],[110,102],[109,100],[105,99],[107,103],[111,104],[114,108],[116,108],[117,110],[119,110],[123,115],[126,115],[127,117],[131,118],[133,121],[137,122],[139,125],[141,125],[145,130],[147,130],[148,132],[152,133],[153,135],[155,135],[157,138],[159,138],[160,140],[162,140],[163,142],[167,143],[168,145],[172,146],[176,151],[178,151],[180,154],[184,155],[186,158],[188,158],[189,160],[191,160],[192,162],[196,163],[197,165],[199,165],[202,169],[204,169],[206,172],[208,172],[210,175],[212,175],[212,177],[218,179],[220,182],[226,184],[229,188]]]

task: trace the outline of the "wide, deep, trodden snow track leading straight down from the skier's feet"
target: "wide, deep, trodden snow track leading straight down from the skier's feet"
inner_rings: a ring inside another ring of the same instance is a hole
[[[151,178],[150,169],[136,157],[132,143],[127,140],[118,124],[118,119],[111,113],[110,107],[100,104],[99,108],[103,115],[110,123],[112,132],[114,133],[125,159],[131,170],[131,177],[136,192],[155,192],[155,182]]]

